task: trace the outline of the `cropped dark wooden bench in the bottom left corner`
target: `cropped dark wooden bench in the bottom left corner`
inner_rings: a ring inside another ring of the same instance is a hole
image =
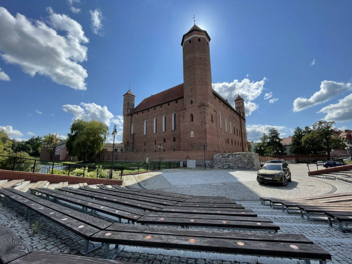
[[[0,263],[1,264],[127,264],[130,262],[112,261],[98,258],[56,254],[51,252],[31,251],[8,226],[0,222]]]

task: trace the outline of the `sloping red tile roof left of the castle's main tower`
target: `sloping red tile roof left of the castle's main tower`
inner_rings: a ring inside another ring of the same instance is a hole
[[[183,97],[183,83],[143,99],[143,101],[140,102],[138,106],[136,106],[133,109],[131,114],[142,111],[147,108],[161,105],[163,103],[170,102],[172,100],[176,100],[182,97]]]

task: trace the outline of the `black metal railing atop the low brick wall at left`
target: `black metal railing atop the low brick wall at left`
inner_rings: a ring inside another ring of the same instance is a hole
[[[122,169],[0,155],[0,169],[122,180]]]

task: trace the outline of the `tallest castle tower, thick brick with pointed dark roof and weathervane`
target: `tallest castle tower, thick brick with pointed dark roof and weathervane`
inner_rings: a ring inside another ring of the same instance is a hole
[[[213,96],[210,69],[210,37],[207,31],[194,24],[183,35],[183,98],[181,116],[181,150],[198,151],[207,143],[207,115]]]

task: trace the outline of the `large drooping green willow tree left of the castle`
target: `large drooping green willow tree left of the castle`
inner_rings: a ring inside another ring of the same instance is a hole
[[[108,126],[100,121],[77,119],[70,127],[66,141],[67,152],[83,162],[92,161],[103,149],[108,134]]]

